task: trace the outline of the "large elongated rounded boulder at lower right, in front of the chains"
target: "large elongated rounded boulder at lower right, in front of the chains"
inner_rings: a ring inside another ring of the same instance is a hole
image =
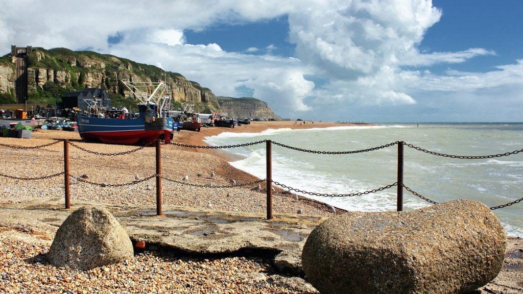
[[[482,203],[346,212],[316,227],[302,266],[322,293],[467,293],[503,266],[506,235]]]

